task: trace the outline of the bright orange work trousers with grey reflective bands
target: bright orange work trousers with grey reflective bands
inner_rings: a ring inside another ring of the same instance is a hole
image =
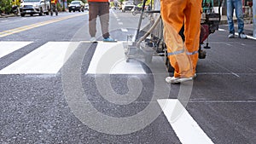
[[[195,74],[201,30],[201,0],[160,0],[164,38],[174,77]],[[184,24],[184,36],[178,34]]]

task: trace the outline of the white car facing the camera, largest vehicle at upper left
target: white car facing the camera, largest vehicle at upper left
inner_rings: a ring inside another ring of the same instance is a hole
[[[49,14],[49,0],[23,0],[20,3],[20,15],[23,17],[25,14]]]

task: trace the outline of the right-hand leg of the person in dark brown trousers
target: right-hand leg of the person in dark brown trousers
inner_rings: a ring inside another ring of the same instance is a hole
[[[109,3],[102,2],[101,9],[100,9],[100,20],[102,26],[102,37],[108,38],[108,26],[109,26]]]

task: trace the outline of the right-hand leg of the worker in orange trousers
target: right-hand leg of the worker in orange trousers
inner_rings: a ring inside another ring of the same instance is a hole
[[[193,67],[193,71],[187,73],[187,77],[193,77],[198,61],[198,49],[200,44],[201,0],[191,0],[184,10],[184,13],[185,48],[187,49],[187,55],[189,55],[190,65]]]

